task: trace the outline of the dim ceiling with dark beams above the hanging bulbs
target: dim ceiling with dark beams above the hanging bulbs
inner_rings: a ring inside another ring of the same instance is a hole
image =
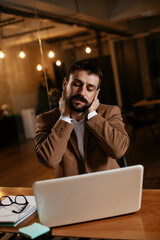
[[[109,38],[160,32],[159,0],[0,0],[1,46],[103,32]]]

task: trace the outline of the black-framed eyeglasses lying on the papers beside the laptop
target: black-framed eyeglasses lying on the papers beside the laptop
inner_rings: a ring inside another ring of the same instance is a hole
[[[23,205],[23,208],[20,211],[12,210],[13,213],[21,213],[27,207],[29,202],[24,195],[15,196],[15,200],[13,201],[10,196],[2,196],[0,198],[0,206],[11,206],[12,204]]]

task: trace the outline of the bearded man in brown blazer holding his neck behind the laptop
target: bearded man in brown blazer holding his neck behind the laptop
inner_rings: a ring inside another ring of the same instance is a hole
[[[59,108],[36,118],[35,151],[54,177],[118,168],[129,145],[120,109],[100,104],[102,73],[94,64],[75,63],[63,81]]]

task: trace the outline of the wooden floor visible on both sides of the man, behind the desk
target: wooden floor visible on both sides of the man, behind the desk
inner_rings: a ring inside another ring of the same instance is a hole
[[[137,131],[130,125],[126,128],[131,138],[128,165],[144,166],[144,188],[160,188],[160,124],[153,126],[157,139],[149,127]],[[0,186],[31,187],[34,181],[52,177],[53,170],[38,162],[33,140],[0,149]]]

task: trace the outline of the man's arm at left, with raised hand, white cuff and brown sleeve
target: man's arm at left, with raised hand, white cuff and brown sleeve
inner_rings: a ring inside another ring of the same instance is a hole
[[[50,116],[47,113],[36,118],[36,155],[41,163],[50,168],[57,167],[61,162],[73,130],[71,110],[65,100],[65,89],[59,100],[59,111],[60,118],[56,114]]]

